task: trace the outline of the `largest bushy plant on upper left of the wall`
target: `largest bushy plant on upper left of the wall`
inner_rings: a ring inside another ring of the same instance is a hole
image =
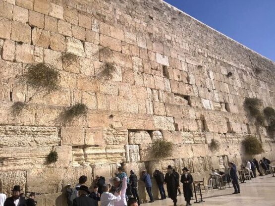
[[[35,89],[43,88],[47,89],[47,92],[52,92],[59,87],[59,71],[45,63],[31,64],[23,77],[27,84]]]

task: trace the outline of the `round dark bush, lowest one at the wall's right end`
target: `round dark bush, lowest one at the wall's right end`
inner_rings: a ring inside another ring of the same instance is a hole
[[[262,144],[256,137],[247,137],[242,142],[245,153],[249,155],[261,154],[264,152]]]

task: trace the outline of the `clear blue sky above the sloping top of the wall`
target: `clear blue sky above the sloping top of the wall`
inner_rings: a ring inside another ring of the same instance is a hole
[[[275,0],[165,0],[275,61]]]

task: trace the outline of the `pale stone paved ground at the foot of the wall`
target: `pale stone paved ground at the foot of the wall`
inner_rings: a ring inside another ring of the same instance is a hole
[[[205,195],[203,192],[204,203],[194,204],[193,206],[275,206],[275,177],[266,175],[257,177],[246,183],[240,184],[241,194],[232,195],[234,189],[225,190],[215,189],[213,193]],[[183,196],[178,196],[178,206],[185,206]],[[155,201],[151,204],[142,206],[173,206],[170,199]]]

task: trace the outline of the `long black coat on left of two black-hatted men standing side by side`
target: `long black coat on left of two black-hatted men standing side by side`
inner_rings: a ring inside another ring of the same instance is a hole
[[[166,183],[168,197],[172,200],[176,199],[177,188],[179,187],[179,179],[176,174],[174,172],[172,174],[166,173],[164,181]]]

